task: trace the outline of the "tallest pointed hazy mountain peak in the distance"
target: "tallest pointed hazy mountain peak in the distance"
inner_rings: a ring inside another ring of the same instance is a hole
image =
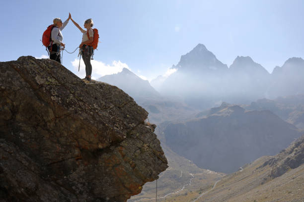
[[[163,95],[177,96],[194,107],[210,107],[222,99],[228,66],[202,44],[182,55],[177,69],[159,88]],[[204,100],[202,102],[202,100]]]

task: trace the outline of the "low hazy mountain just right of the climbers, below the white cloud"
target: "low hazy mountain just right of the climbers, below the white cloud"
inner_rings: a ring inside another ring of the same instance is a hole
[[[147,99],[160,98],[159,93],[152,88],[149,81],[141,79],[127,68],[123,68],[117,74],[102,76],[97,81],[117,86],[139,103]]]

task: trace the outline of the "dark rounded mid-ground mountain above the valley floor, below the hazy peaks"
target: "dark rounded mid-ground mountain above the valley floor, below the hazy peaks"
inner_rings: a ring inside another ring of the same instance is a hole
[[[262,155],[274,155],[300,136],[271,111],[237,105],[214,108],[206,118],[170,123],[166,144],[201,168],[230,173]]]

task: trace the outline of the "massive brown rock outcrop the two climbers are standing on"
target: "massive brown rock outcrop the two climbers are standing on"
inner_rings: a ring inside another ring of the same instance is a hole
[[[0,109],[0,201],[125,202],[167,168],[145,109],[53,60],[1,62]]]

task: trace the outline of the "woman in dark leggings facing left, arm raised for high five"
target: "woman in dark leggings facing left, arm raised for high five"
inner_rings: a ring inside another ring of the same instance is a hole
[[[70,14],[71,15],[71,14]],[[93,27],[93,20],[87,19],[84,22],[84,29],[82,29],[71,17],[72,22],[75,24],[75,26],[80,30],[82,34],[82,41],[79,45],[81,56],[85,65],[85,80],[91,81],[91,74],[92,74],[92,65],[91,65],[91,56],[93,54],[93,36],[94,32],[91,27]],[[88,33],[88,34],[87,34]]]

